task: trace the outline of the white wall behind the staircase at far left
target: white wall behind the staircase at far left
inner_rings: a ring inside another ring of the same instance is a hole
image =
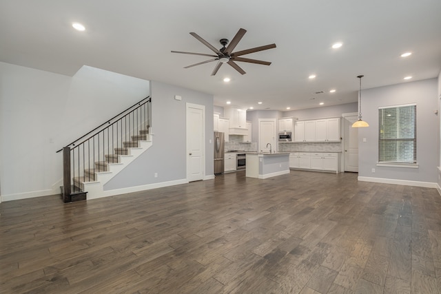
[[[150,81],[93,67],[63,76],[0,63],[1,198],[60,193],[58,149],[150,95]]]

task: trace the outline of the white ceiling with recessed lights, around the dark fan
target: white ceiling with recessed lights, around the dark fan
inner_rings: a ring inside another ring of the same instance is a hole
[[[238,63],[240,75],[224,64],[210,76],[215,62],[183,69],[209,57],[170,52],[212,54],[189,32],[221,48],[239,28],[247,33],[234,51],[276,43],[243,56],[271,65]],[[214,94],[215,105],[305,109],[356,102],[359,74],[363,88],[438,76],[441,1],[1,0],[0,40],[6,63],[70,76],[90,65]]]

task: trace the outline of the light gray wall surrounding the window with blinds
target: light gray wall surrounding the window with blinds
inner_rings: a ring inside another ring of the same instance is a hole
[[[398,181],[438,181],[440,162],[440,122],[434,114],[438,109],[437,79],[402,83],[362,90],[362,116],[369,127],[358,130],[360,178],[393,179]],[[419,168],[378,167],[378,107],[417,104],[417,161]],[[366,138],[367,142],[362,139]],[[375,173],[372,172],[375,169]]]

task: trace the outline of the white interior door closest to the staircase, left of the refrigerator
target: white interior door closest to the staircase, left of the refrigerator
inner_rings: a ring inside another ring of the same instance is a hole
[[[187,103],[187,180],[203,180],[205,106]]]

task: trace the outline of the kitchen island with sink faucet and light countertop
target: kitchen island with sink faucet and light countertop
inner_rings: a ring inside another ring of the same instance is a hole
[[[289,174],[289,152],[247,152],[245,176],[271,178]]]

